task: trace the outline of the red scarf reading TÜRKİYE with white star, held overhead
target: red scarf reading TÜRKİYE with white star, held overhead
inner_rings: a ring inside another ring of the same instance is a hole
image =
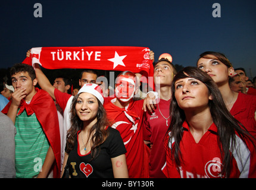
[[[79,68],[110,71],[144,72],[153,76],[148,47],[88,46],[88,47],[34,47],[30,58],[23,63],[40,64],[46,69]]]

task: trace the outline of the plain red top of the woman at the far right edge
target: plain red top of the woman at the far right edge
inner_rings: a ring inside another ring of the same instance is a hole
[[[239,93],[230,113],[256,138],[256,96]]]

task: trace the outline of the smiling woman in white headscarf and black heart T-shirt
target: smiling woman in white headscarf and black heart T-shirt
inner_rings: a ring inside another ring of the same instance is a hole
[[[126,148],[120,133],[108,125],[103,103],[101,87],[96,84],[83,85],[74,97],[62,176],[128,177]]]

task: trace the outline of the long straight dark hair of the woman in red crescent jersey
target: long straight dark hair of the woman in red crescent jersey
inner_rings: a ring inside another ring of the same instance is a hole
[[[175,99],[175,82],[182,78],[195,78],[196,80],[204,83],[209,91],[209,95],[213,98],[213,100],[209,100],[208,105],[210,107],[211,116],[213,118],[214,124],[217,126],[217,135],[218,135],[218,147],[220,147],[221,151],[221,159],[223,160],[223,170],[222,174],[228,177],[230,174],[230,150],[234,150],[233,148],[236,144],[236,134],[245,142],[245,138],[249,138],[251,140],[251,135],[246,131],[243,125],[238,122],[233,116],[230,114],[229,110],[227,110],[226,105],[223,101],[223,97],[221,96],[220,91],[218,90],[217,84],[212,80],[212,78],[201,71],[200,69],[192,66],[188,66],[182,69],[182,71],[178,72],[171,85],[172,98],[170,103],[170,115],[171,115],[171,124],[168,128],[168,132],[170,132],[169,142],[174,140],[174,145],[171,147],[171,156],[174,160],[176,166],[180,166],[182,162],[182,155],[180,153],[180,141],[182,141],[183,135],[183,127],[182,124],[186,119],[185,112],[180,109],[178,106],[177,100]],[[243,128],[243,129],[242,129]]]

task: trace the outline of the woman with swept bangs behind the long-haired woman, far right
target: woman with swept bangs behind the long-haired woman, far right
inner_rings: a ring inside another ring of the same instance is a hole
[[[229,78],[234,75],[234,69],[229,59],[223,53],[204,52],[197,67],[213,78],[227,109],[256,138],[256,96],[230,89]]]

